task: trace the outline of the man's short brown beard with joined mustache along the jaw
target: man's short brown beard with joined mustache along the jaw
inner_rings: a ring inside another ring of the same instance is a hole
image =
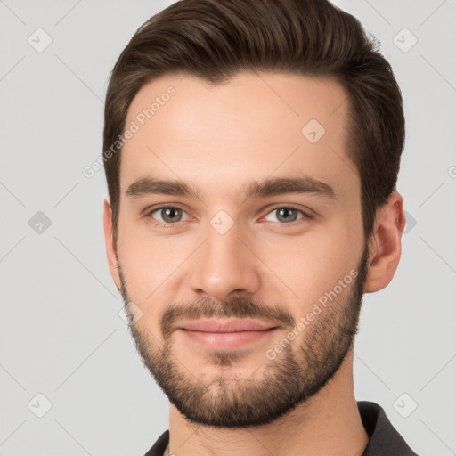
[[[125,304],[130,302],[126,278],[118,263]],[[354,347],[354,336],[368,270],[368,248],[364,246],[358,275],[341,296],[331,300],[313,322],[272,360],[265,357],[260,379],[230,377],[230,366],[242,362],[242,350],[207,350],[206,361],[223,367],[218,376],[199,378],[173,353],[173,322],[181,318],[258,318],[281,322],[291,330],[296,322],[283,306],[265,306],[250,297],[232,297],[224,302],[204,298],[188,305],[170,305],[160,319],[163,342],[144,323],[129,329],[142,364],[151,372],[170,403],[191,423],[216,428],[246,428],[273,422],[316,395],[334,377],[346,354]],[[283,340],[283,337],[278,338]],[[261,352],[260,352],[261,353]],[[204,365],[204,364],[203,364]],[[256,369],[257,371],[258,369]]]

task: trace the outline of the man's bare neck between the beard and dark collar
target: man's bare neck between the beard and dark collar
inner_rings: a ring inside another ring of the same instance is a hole
[[[187,421],[171,405],[169,454],[361,456],[369,436],[354,398],[353,351],[322,390],[265,426],[212,428]]]

